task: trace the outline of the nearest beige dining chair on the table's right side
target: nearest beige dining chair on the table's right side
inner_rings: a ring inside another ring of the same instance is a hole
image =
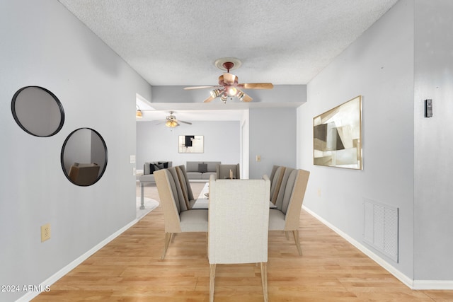
[[[299,240],[299,221],[309,171],[285,168],[280,190],[275,201],[276,209],[269,210],[269,231],[285,231],[285,236],[292,232],[297,251],[302,256]]]

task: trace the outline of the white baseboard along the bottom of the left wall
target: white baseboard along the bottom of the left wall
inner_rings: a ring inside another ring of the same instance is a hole
[[[50,286],[50,285],[54,284],[58,279],[63,277],[65,274],[71,272],[71,270],[74,269],[77,265],[80,265],[82,262],[84,262],[86,259],[88,259],[88,257],[93,255],[98,250],[101,250],[101,248],[103,248],[105,245],[110,243],[110,241],[117,238],[117,236],[120,236],[123,232],[127,231],[127,229],[130,228],[131,226],[134,226],[134,224],[137,223],[138,221],[139,221],[139,219],[134,219],[130,223],[127,223],[127,225],[120,228],[120,230],[116,231],[112,235],[108,236],[108,238],[105,238],[100,243],[95,245],[93,248],[91,248],[91,250],[88,250],[83,255],[76,258],[76,260],[69,263],[69,265],[60,269],[58,272],[53,274],[51,277],[49,277],[48,279],[43,281],[40,284],[40,289],[45,289],[46,286]],[[40,294],[40,291],[29,291],[24,296],[21,296],[21,298],[18,298],[18,300],[16,300],[16,302],[28,302],[28,301],[32,300],[33,298],[35,298],[36,296],[38,296],[39,294]]]

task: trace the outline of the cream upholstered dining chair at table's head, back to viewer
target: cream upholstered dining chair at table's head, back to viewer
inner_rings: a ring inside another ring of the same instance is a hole
[[[264,301],[268,301],[268,223],[270,181],[210,178],[208,258],[210,301],[216,265],[260,263]]]

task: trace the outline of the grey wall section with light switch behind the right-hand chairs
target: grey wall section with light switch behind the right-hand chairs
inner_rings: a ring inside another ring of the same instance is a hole
[[[273,165],[296,168],[296,124],[295,108],[249,110],[250,178],[259,179],[264,174],[270,175]],[[260,156],[260,161],[257,161],[256,156]]]

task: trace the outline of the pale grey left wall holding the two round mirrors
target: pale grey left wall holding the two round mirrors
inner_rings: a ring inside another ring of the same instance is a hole
[[[136,218],[132,173],[135,95],[151,86],[58,1],[0,1],[0,284],[40,285]],[[57,95],[64,126],[33,137],[16,124],[19,88]],[[75,129],[96,129],[108,147],[103,178],[90,187],[67,180],[60,152]],[[51,225],[41,243],[40,226]],[[16,301],[26,292],[0,292]]]

